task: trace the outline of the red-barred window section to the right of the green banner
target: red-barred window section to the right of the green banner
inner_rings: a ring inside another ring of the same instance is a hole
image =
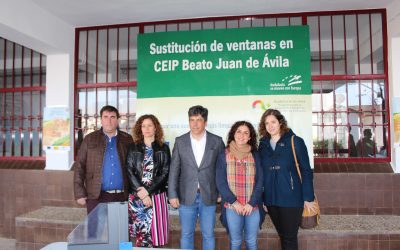
[[[383,13],[307,17],[314,156],[388,158]]]

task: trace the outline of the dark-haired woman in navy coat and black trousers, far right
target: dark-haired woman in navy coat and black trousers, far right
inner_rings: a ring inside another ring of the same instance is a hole
[[[282,249],[298,249],[297,233],[303,208],[315,209],[313,172],[304,140],[288,128],[285,117],[268,109],[259,124],[259,153],[264,170],[264,204],[279,234]],[[302,182],[297,173],[291,138]]]

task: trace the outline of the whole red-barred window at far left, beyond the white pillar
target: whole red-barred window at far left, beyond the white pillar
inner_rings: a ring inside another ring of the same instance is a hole
[[[0,37],[0,158],[42,157],[46,57]]]

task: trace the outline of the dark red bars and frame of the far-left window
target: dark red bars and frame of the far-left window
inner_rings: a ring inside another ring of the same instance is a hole
[[[1,112],[1,116],[0,116],[0,122],[1,122],[1,138],[0,138],[0,143],[2,144],[2,152],[0,152],[0,161],[2,160],[44,160],[45,156],[44,156],[44,151],[42,149],[43,146],[43,133],[42,133],[42,120],[43,120],[43,110],[42,107],[44,107],[44,102],[42,100],[42,98],[45,99],[46,97],[46,83],[45,81],[43,81],[43,79],[45,78],[45,72],[46,70],[44,68],[44,61],[46,60],[46,56],[34,51],[32,49],[29,49],[27,47],[24,47],[22,45],[19,45],[15,42],[9,41],[5,38],[0,37],[1,40],[4,41],[4,47],[3,52],[3,85],[0,86],[0,95],[3,95],[3,99],[2,99],[2,112]],[[7,58],[7,44],[12,44],[13,48],[12,48],[12,56],[11,59]],[[16,56],[16,46],[21,48],[21,57],[17,58]],[[30,51],[30,53],[26,53],[28,55],[25,54],[25,51]],[[37,66],[34,66],[34,54],[36,54],[39,57],[39,64]],[[11,82],[12,82],[12,86],[9,87],[7,86],[7,61],[11,60],[12,61],[12,67],[11,67]],[[21,68],[17,67],[16,65],[16,61],[17,60],[21,60]],[[29,72],[25,74],[25,70],[26,68],[24,67],[24,61],[28,60],[30,62],[30,66],[28,68]],[[34,82],[34,68],[38,67],[38,72],[36,72],[35,74],[38,74],[38,82]],[[16,77],[18,76],[16,71],[20,70],[21,72],[21,79],[20,79],[20,86],[16,86]],[[26,83],[25,81],[25,77],[29,77],[29,82]],[[28,86],[26,86],[28,85]],[[36,86],[37,85],[37,86]],[[24,115],[24,104],[23,104],[23,97],[24,97],[24,93],[29,93],[30,96],[30,100],[29,100],[29,104],[30,104],[30,108],[29,108],[29,114],[26,116]],[[33,95],[34,94],[38,94],[38,103],[34,102],[33,99]],[[12,95],[12,105],[11,105],[11,113],[12,115],[10,117],[6,117],[6,96],[7,94],[11,94]],[[20,103],[19,105],[21,106],[21,114],[16,115],[15,114],[15,95],[16,94],[20,94]],[[42,96],[44,95],[44,96]],[[38,108],[38,114],[34,115],[33,113],[33,106],[34,104],[37,104],[39,106]],[[11,122],[11,128],[6,129],[5,128],[5,124],[6,121],[10,120]],[[28,120],[29,121],[29,126],[24,126],[24,120]],[[38,122],[38,126],[33,126],[33,120],[37,120]],[[18,123],[20,123],[18,125]],[[11,133],[11,155],[10,156],[6,156],[6,152],[7,152],[7,148],[6,148],[6,135],[5,132],[6,131],[10,131]],[[27,150],[29,152],[29,155],[24,155],[25,150],[25,146],[24,146],[24,135],[23,135],[23,131],[28,131],[29,132],[29,150]],[[37,131],[37,140],[38,143],[37,145],[33,145],[33,131]],[[19,132],[19,144],[20,144],[20,155],[16,156],[15,155],[15,136],[16,136],[16,132]],[[37,156],[33,156],[34,153],[34,147],[38,147],[38,155]]]

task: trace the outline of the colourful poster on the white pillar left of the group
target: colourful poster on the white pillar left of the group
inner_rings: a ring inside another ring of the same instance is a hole
[[[70,117],[67,107],[45,107],[43,114],[43,149],[70,150]]]

